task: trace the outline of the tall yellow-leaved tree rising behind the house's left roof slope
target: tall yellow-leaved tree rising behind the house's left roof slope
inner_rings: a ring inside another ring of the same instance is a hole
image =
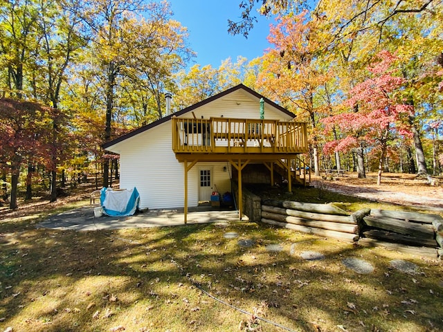
[[[141,14],[145,14],[146,18],[142,19]],[[172,23],[168,26],[169,16],[170,10],[165,2],[146,4],[141,0],[93,0],[85,6],[82,17],[91,28],[93,66],[100,68],[97,73],[103,86],[105,142],[111,140],[113,135],[119,97],[116,89],[121,80],[140,80],[147,74],[148,63],[159,64],[159,57],[162,57],[159,49],[164,51],[168,42],[174,45],[181,43],[180,37],[177,37],[179,29],[174,28]],[[168,35],[171,30],[174,30],[172,35],[177,37],[174,41]],[[171,53],[174,52],[177,52],[177,48]],[[141,68],[140,64],[145,68]],[[166,66],[162,68],[165,70]],[[161,73],[161,70],[158,69],[158,72]],[[145,78],[149,77],[151,84],[155,77],[159,77],[155,76],[157,72],[148,74]],[[159,82],[154,83],[159,88]],[[159,99],[159,93],[154,98]],[[109,185],[107,160],[103,163],[103,185]]]

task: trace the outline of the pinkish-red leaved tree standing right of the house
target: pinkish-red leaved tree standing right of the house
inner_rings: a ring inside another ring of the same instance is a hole
[[[392,64],[396,59],[392,53],[381,51],[368,66],[370,77],[350,91],[352,97],[345,102],[349,111],[321,120],[326,132],[332,132],[335,125],[342,134],[341,139],[325,144],[325,153],[348,151],[363,145],[378,149],[378,185],[388,142],[397,134],[408,134],[402,126],[402,118],[413,111],[410,105],[397,98],[405,80],[394,75]]]

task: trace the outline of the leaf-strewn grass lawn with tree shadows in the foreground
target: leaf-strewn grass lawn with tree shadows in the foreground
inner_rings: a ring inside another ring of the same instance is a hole
[[[442,331],[436,259],[251,222],[76,232],[43,216],[0,221],[0,331]]]

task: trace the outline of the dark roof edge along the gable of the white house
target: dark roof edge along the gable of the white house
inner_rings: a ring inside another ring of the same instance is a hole
[[[266,102],[266,104],[270,104],[272,107],[275,107],[275,109],[282,111],[282,113],[285,113],[288,116],[291,116],[292,118],[296,117],[295,114],[291,113],[290,111],[288,111],[284,107],[281,107],[279,104],[275,104],[275,102],[273,102],[272,100],[269,100],[268,98],[264,97],[263,95],[260,95],[260,93],[253,91],[253,89],[248,88],[248,86],[246,86],[244,84],[238,84],[237,86],[233,86],[232,88],[230,88],[228,90],[222,91],[221,93],[217,93],[217,95],[213,95],[212,97],[202,100],[201,102],[197,102],[197,104],[193,104],[190,107],[186,107],[186,109],[182,109],[181,111],[171,113],[169,116],[165,116],[164,118],[161,118],[159,120],[151,122],[150,124],[147,124],[143,127],[140,127],[138,129],[134,129],[133,131],[129,131],[129,133],[126,133],[123,136],[120,136],[118,138],[115,138],[114,140],[110,140],[109,142],[106,142],[105,144],[102,145],[102,147],[103,147],[103,149],[107,149],[108,147],[111,147],[112,145],[122,142],[123,140],[127,140],[128,138],[134,137],[134,136],[138,135],[139,133],[143,133],[144,131],[152,129],[152,128],[158,126],[159,124],[168,122],[169,120],[171,120],[171,118],[173,116],[181,116],[185,113],[193,111],[205,104],[208,104],[209,102],[213,102],[214,100],[224,97],[225,95],[228,95],[229,93],[232,93],[232,92],[237,91],[239,89],[243,89],[244,91],[251,93],[251,95],[254,95],[257,98],[263,98],[263,100],[264,100],[264,102]]]

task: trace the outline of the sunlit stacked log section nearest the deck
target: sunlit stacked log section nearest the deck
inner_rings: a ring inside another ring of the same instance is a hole
[[[359,239],[359,222],[367,212],[348,214],[329,204],[264,200],[262,222],[343,241]]]

